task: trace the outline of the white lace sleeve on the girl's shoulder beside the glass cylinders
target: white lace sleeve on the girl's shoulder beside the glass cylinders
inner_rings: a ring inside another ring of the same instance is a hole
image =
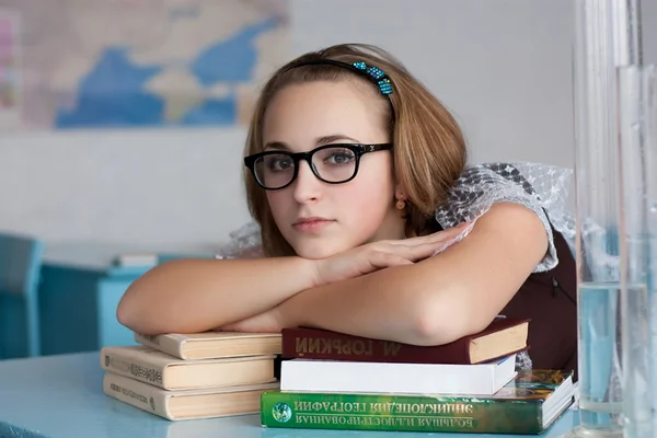
[[[447,201],[436,210],[442,228],[464,221],[473,223],[495,203],[517,203],[533,210],[549,238],[545,257],[534,272],[550,270],[558,263],[552,227],[574,251],[575,221],[566,209],[573,171],[540,163],[486,163],[469,166],[449,191]],[[552,227],[551,227],[552,224]]]

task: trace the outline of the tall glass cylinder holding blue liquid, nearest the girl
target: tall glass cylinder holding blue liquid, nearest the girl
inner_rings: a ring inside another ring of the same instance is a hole
[[[622,173],[616,70],[637,62],[632,1],[576,0],[574,46],[579,426],[623,435]]]

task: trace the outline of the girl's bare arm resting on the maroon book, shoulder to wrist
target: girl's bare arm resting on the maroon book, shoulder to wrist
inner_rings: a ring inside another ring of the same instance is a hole
[[[281,303],[279,312],[286,325],[446,344],[491,324],[546,251],[545,229],[533,211],[496,205],[466,239],[436,256],[315,287]]]

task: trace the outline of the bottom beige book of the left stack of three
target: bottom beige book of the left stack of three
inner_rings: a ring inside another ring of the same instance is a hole
[[[106,372],[103,378],[105,394],[171,420],[257,414],[261,394],[277,388],[278,382],[272,382],[218,389],[166,391],[114,372]]]

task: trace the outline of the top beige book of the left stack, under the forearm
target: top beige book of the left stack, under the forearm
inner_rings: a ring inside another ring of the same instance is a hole
[[[135,341],[181,359],[279,355],[281,350],[280,333],[204,332],[152,336],[135,333]]]

